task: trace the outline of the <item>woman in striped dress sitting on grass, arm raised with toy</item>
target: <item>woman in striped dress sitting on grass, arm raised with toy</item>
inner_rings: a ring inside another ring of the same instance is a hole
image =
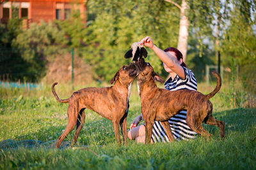
[[[141,39],[140,44],[151,48],[159,59],[163,61],[165,71],[170,74],[170,78],[164,83],[164,89],[170,91],[180,89],[197,90],[195,76],[183,62],[182,53],[179,50],[169,47],[163,51],[154,45],[152,39],[148,36]],[[193,132],[186,124],[186,114],[186,110],[180,111],[180,113],[168,120],[175,139],[188,140],[196,138],[196,132]],[[145,142],[145,125],[137,126],[142,119],[142,115],[138,115],[132,122],[128,132],[128,138],[131,140],[135,139],[138,143]],[[152,129],[151,143],[160,141],[166,142],[169,139],[161,123],[155,121]]]

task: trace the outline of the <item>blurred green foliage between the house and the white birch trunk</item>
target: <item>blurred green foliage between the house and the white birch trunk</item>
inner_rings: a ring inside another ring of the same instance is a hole
[[[177,9],[163,1],[89,1],[90,21],[83,41],[88,45],[84,59],[92,63],[99,78],[109,80],[123,64],[132,43],[145,36],[160,48],[176,46],[179,25]],[[96,11],[95,11],[96,9]],[[102,11],[99,15],[99,11]],[[176,14],[175,17],[170,17]],[[168,36],[167,36],[168,35]],[[148,49],[148,60],[162,73],[161,60]],[[111,69],[109,69],[111,68]]]

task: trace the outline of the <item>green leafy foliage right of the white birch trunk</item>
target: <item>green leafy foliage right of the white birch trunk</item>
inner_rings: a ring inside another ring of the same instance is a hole
[[[200,52],[206,48],[203,39],[214,42],[214,50],[221,51],[221,64],[230,66],[230,58],[237,59],[239,65],[255,63],[255,4],[253,1],[189,1],[191,35],[196,33]],[[216,33],[218,29],[218,34]],[[217,35],[216,35],[217,34]],[[215,46],[217,38],[220,47]],[[219,49],[217,49],[219,48]],[[202,55],[201,55],[202,56]]]

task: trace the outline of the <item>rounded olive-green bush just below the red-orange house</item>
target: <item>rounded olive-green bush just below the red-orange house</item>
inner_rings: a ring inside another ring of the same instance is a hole
[[[63,47],[67,39],[63,31],[52,22],[40,25],[31,24],[30,29],[23,31],[12,41],[12,48],[17,50],[20,57],[30,66],[28,74],[33,75],[33,81],[38,81],[45,74],[45,64],[55,55],[65,53]]]

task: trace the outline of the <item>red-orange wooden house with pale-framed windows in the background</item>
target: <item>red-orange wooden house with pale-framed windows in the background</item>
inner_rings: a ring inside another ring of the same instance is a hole
[[[88,1],[88,0],[87,0]],[[79,11],[86,22],[86,0],[0,0],[0,20],[6,24],[13,16],[22,18],[22,25],[29,28],[31,22],[40,20],[65,20]]]

